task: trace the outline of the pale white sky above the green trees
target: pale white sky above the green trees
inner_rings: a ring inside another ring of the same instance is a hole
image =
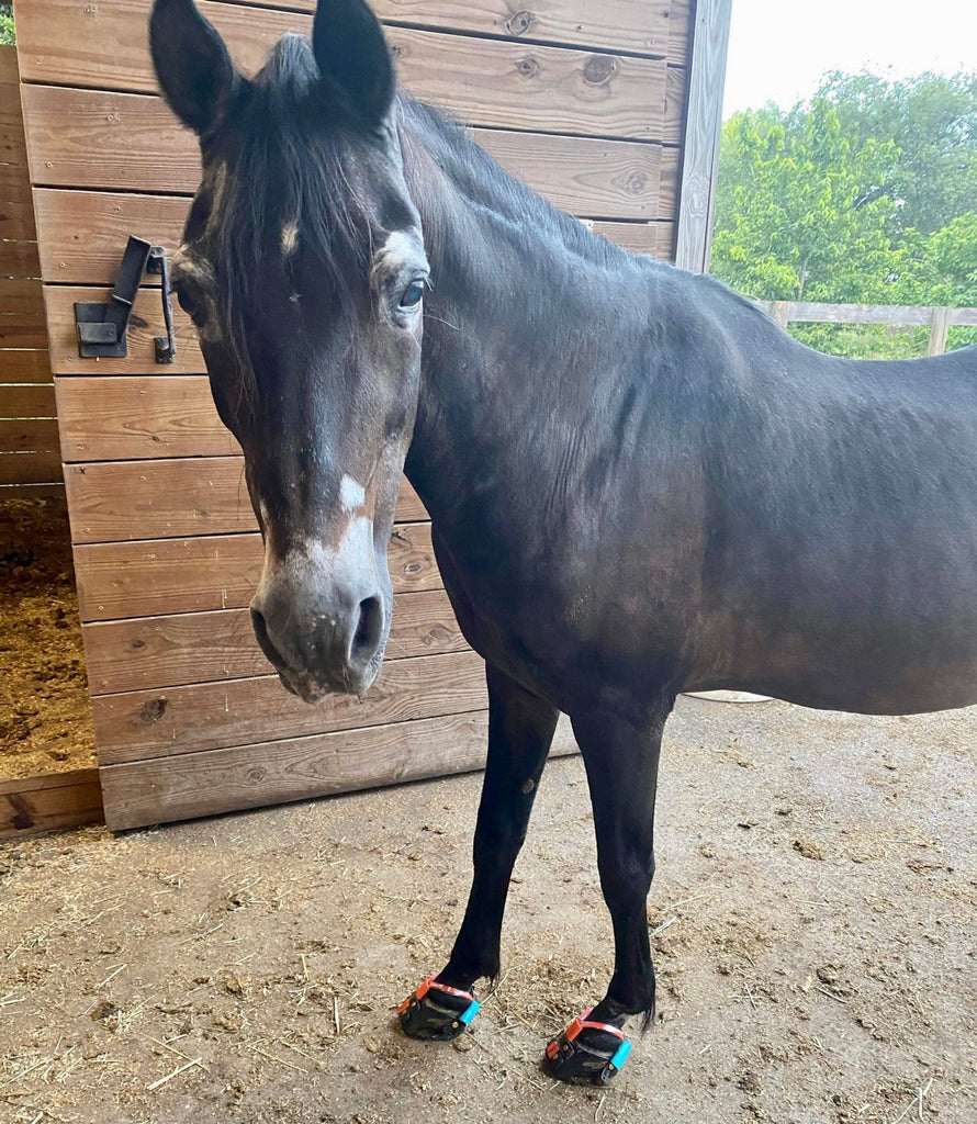
[[[809,98],[825,71],[977,71],[977,0],[733,0],[723,117]]]

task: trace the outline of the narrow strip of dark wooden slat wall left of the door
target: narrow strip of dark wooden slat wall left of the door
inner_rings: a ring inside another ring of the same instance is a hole
[[[17,48],[0,46],[0,502],[63,490],[36,237]]]

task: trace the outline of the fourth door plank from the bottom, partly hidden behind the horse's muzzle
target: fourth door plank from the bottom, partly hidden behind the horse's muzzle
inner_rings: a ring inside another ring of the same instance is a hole
[[[259,535],[207,535],[74,549],[82,620],[200,613],[247,605],[261,574]],[[395,526],[388,552],[395,592],[441,589],[423,523]]]

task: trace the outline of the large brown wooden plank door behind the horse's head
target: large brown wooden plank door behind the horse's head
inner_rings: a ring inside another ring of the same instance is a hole
[[[127,235],[179,244],[195,138],[155,91],[150,0],[15,4],[39,272],[106,816],[112,827],[479,767],[480,661],[405,483],[381,680],[308,707],[260,654],[246,606],[260,541],[242,459],[189,321],[179,356],[147,284],[129,357],[78,356],[73,302],[106,299]],[[208,2],[254,71],[314,0]],[[374,0],[404,83],[465,119],[510,171],[606,237],[670,259],[690,0]],[[299,10],[296,10],[299,9]],[[43,380],[38,377],[38,382]],[[561,738],[560,747],[571,743]]]

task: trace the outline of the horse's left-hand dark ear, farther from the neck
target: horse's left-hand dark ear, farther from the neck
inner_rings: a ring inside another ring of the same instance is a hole
[[[150,51],[163,97],[180,120],[198,134],[218,125],[244,79],[193,0],[155,0]]]

